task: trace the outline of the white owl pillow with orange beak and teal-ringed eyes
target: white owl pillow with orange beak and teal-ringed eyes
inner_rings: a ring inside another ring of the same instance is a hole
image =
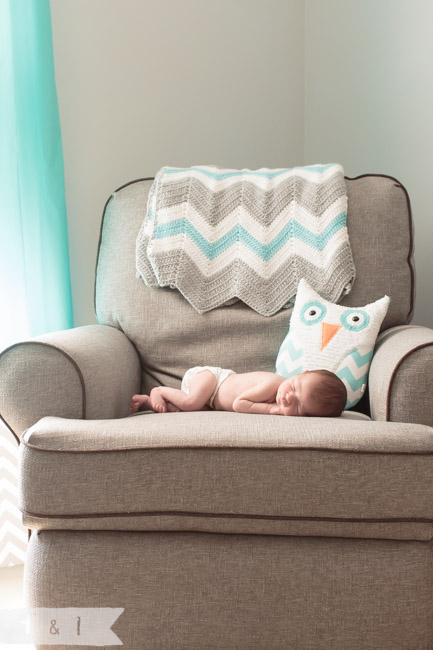
[[[388,306],[388,296],[365,307],[335,305],[301,280],[289,333],[278,352],[277,374],[291,377],[319,368],[335,372],[347,389],[346,408],[351,408],[365,391],[374,344]]]

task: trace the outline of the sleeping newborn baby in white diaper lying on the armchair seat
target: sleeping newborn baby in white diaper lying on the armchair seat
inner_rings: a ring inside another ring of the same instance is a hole
[[[343,382],[329,370],[305,370],[286,379],[273,372],[235,373],[214,366],[196,366],[187,370],[180,390],[157,386],[150,395],[133,395],[130,410],[166,413],[214,409],[338,417],[346,397]]]

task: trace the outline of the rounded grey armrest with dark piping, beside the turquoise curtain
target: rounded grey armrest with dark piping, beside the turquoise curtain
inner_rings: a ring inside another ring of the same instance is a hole
[[[0,354],[0,416],[17,437],[46,415],[124,417],[140,385],[135,347],[105,325],[45,334]]]

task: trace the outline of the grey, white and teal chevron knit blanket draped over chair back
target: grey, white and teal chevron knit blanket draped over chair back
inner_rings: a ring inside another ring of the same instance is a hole
[[[137,277],[178,289],[201,314],[240,299],[271,316],[300,278],[337,302],[355,278],[346,214],[340,165],[163,167],[137,237]]]

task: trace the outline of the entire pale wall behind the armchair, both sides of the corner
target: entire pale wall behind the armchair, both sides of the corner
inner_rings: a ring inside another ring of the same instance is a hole
[[[396,176],[433,327],[431,0],[51,0],[77,325],[102,208],[162,165]]]

